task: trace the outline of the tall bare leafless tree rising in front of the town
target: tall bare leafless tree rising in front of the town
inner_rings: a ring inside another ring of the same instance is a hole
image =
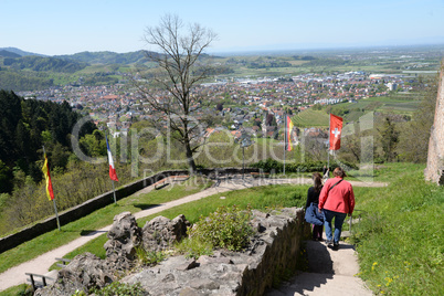
[[[151,81],[156,87],[140,87],[158,115],[166,115],[170,131],[184,147],[190,173],[195,172],[193,155],[202,145],[202,128],[192,117],[201,99],[192,89],[210,75],[202,54],[216,35],[199,24],[184,25],[177,15],[166,14],[158,27],[148,27],[144,40],[159,51],[147,52],[157,64]],[[165,95],[159,96],[159,91]]]

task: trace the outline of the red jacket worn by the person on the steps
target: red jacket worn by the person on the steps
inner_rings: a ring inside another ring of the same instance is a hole
[[[351,184],[342,180],[330,190],[339,180],[341,180],[340,177],[335,177],[326,181],[319,194],[319,210],[326,209],[334,212],[351,214],[355,209],[355,193]]]

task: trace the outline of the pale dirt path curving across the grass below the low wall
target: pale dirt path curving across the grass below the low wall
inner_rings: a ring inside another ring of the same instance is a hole
[[[156,208],[147,209],[140,212],[135,213],[134,215],[136,219],[140,219],[150,214],[155,214],[161,212],[163,210],[200,200],[216,193],[232,191],[232,190],[240,190],[251,187],[257,186],[266,186],[266,184],[284,184],[284,183],[292,183],[292,184],[309,184],[311,183],[310,179],[307,178],[297,178],[297,179],[254,179],[251,177],[245,177],[242,179],[242,176],[236,176],[228,179],[220,179],[214,187],[205,189],[201,192],[184,197],[179,200],[170,201],[167,203],[159,204]],[[385,183],[364,183],[364,182],[352,182],[356,187],[384,187]],[[151,190],[150,187],[142,189],[141,191],[149,192]],[[135,194],[138,194],[136,192]],[[81,236],[63,246],[54,249],[50,252],[46,252],[29,262],[22,263],[18,266],[11,267],[4,273],[0,274],[0,290],[7,289],[12,286],[17,286],[27,282],[25,273],[34,273],[34,274],[46,274],[51,265],[55,263],[56,257],[63,257],[65,254],[74,251],[75,249],[84,245],[85,243],[89,242],[91,240],[99,236],[104,232],[107,232],[112,225],[107,225],[103,229],[94,231],[87,235]]]

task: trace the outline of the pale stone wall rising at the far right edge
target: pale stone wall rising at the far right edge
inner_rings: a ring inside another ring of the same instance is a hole
[[[435,119],[429,140],[427,167],[425,179],[437,184],[444,184],[444,80],[441,71],[438,82]]]

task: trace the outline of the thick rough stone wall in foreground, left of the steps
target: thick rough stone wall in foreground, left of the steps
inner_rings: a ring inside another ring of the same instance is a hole
[[[297,208],[253,211],[258,232],[243,252],[219,250],[197,261],[173,256],[120,282],[140,283],[147,295],[264,295],[296,272],[303,240],[309,234],[304,214]]]

